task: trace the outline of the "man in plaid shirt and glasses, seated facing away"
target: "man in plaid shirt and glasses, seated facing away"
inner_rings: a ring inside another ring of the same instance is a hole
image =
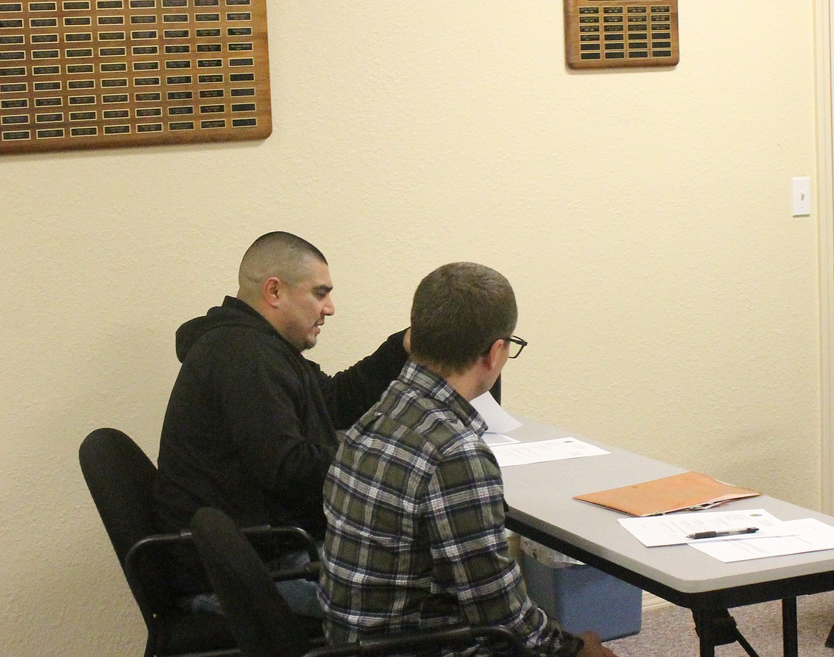
[[[444,265],[417,287],[410,360],[324,483],[332,643],[467,623],[503,625],[540,657],[615,657],[530,602],[507,548],[501,473],[470,400],[525,345],[517,317],[509,281],[484,265]]]

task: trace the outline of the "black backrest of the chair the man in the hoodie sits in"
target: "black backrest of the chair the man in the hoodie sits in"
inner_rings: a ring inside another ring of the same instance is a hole
[[[157,533],[153,521],[156,466],[127,434],[110,428],[96,429],[84,438],[78,462],[133,597],[147,621],[147,614],[167,609],[173,599],[167,558],[162,553],[148,552],[133,573],[125,569],[125,559],[135,543]]]

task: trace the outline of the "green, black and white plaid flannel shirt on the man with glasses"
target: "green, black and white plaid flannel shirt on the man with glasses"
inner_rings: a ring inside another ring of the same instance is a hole
[[[510,556],[485,430],[445,379],[411,361],[349,430],[324,483],[319,600],[332,642],[500,624],[532,654],[573,652]]]

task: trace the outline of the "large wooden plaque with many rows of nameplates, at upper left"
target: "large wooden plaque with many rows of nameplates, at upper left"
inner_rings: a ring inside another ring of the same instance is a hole
[[[267,0],[0,0],[0,154],[265,139]]]

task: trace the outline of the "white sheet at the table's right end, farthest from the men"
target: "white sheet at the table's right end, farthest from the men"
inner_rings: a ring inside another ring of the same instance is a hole
[[[768,538],[744,538],[736,541],[707,541],[690,543],[693,548],[727,564],[733,561],[763,557],[779,557],[784,554],[800,554],[834,549],[834,527],[816,518],[786,520],[792,536]]]

